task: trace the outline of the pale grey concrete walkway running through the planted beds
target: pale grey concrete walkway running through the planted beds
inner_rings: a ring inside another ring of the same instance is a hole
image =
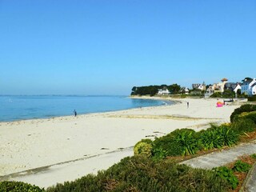
[[[198,158],[181,162],[194,168],[211,170],[214,167],[225,166],[230,162],[238,160],[242,155],[256,154],[256,141],[235,146],[230,150],[216,151],[211,154],[202,155]],[[247,174],[246,183],[242,191],[256,191],[256,166]]]

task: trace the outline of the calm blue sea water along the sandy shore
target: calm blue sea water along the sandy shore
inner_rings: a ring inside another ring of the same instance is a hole
[[[174,102],[126,96],[0,96],[0,122],[126,110]]]

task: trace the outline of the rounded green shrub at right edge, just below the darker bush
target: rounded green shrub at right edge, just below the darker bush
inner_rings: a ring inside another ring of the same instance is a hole
[[[240,118],[231,124],[231,129],[238,134],[254,131],[254,127],[254,122],[249,118]]]

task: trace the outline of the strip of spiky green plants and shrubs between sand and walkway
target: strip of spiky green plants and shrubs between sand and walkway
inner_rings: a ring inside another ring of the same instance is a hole
[[[245,121],[247,122],[248,120],[246,119]],[[240,123],[242,123],[242,120]],[[254,124],[252,127],[254,130]],[[146,148],[144,150],[142,148],[137,150],[137,146],[135,146],[134,154],[143,155],[145,154],[144,151],[147,151],[147,157],[162,159],[167,156],[175,157],[196,154],[199,150],[233,146],[238,142],[239,133],[245,131],[240,124],[236,124],[235,128],[241,132],[234,130],[231,124],[222,126],[212,125],[210,129],[202,130],[198,133],[190,129],[174,130],[170,134],[145,143]],[[142,142],[138,143],[142,144]],[[140,146],[142,147],[142,145]],[[152,150],[149,151],[149,149]],[[142,152],[140,153],[139,151]]]

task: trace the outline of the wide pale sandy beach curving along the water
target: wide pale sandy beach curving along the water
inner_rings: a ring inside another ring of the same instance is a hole
[[[0,181],[13,179],[46,187],[97,173],[132,155],[132,146],[142,138],[161,137],[178,128],[202,130],[210,122],[230,122],[230,114],[239,106],[216,107],[217,99],[176,101],[173,106],[0,122]],[[73,171],[68,169],[71,164]],[[41,170],[50,167],[45,178],[39,177],[45,174]],[[36,174],[31,170],[37,170]],[[27,174],[26,179],[22,174]]]

